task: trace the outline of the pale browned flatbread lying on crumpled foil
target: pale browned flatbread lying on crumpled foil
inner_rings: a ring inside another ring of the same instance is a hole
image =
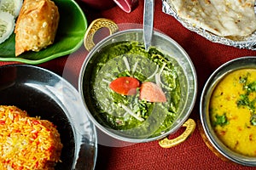
[[[168,0],[192,26],[221,37],[247,37],[256,30],[254,0]]]

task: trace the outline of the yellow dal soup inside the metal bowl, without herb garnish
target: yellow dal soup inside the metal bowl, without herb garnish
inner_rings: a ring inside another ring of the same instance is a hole
[[[247,77],[247,82],[256,81],[256,69],[233,71],[218,83],[212,93],[210,101],[211,121],[216,121],[216,115],[226,115],[228,124],[214,127],[218,138],[231,150],[245,156],[256,156],[256,126],[251,125],[251,113],[247,107],[238,107],[236,102],[240,94],[245,94],[239,77]],[[249,95],[249,99],[256,98],[256,92]],[[256,105],[254,105],[256,106]]]

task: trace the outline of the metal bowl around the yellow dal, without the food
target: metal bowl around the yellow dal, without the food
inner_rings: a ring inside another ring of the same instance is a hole
[[[212,73],[212,75],[207,80],[201,94],[200,116],[202,135],[206,139],[205,142],[207,143],[207,146],[209,146],[209,148],[212,149],[216,155],[226,161],[234,161],[244,166],[255,167],[256,157],[242,156],[241,154],[230,150],[226,145],[223,144],[220,139],[218,139],[218,136],[216,133],[214,133],[209,116],[209,103],[211,95],[218,82],[220,82],[222,78],[230,72],[246,68],[256,69],[256,57],[246,56],[232,59],[224,65],[218,67],[218,69]]]

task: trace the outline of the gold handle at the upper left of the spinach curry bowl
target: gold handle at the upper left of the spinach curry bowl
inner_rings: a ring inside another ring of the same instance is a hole
[[[112,35],[114,32],[119,31],[119,27],[112,20],[103,18],[93,20],[84,35],[84,47],[88,51],[90,51],[95,46],[95,43],[93,42],[93,37],[96,34],[96,31],[100,30],[103,27],[108,28],[110,35]]]

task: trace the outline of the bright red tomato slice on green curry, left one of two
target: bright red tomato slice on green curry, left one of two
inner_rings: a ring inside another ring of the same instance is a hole
[[[140,82],[134,77],[119,77],[109,84],[114,92],[124,95],[137,94],[137,88],[140,87]]]

